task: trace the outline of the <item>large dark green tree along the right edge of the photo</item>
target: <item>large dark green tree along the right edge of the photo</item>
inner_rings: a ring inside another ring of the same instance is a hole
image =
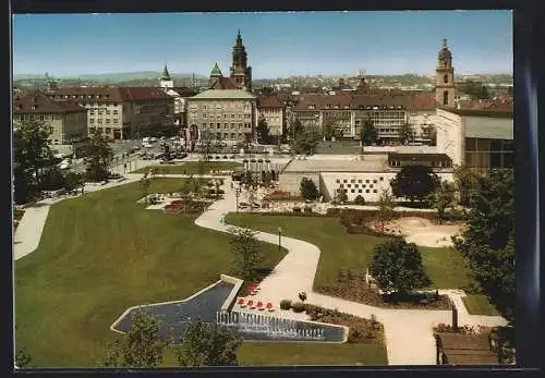
[[[461,237],[455,247],[467,258],[474,280],[500,314],[513,321],[514,181],[512,171],[477,178]]]

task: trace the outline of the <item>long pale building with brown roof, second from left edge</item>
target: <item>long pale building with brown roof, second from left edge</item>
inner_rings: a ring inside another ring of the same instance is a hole
[[[174,98],[157,87],[72,87],[50,90],[57,100],[87,109],[87,133],[110,139],[175,133]]]

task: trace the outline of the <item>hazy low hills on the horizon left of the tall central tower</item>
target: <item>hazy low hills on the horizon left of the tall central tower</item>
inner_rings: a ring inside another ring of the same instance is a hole
[[[156,71],[140,71],[140,72],[119,72],[119,73],[105,73],[105,74],[82,74],[78,76],[50,76],[55,80],[78,80],[85,82],[104,82],[104,83],[117,83],[117,82],[129,82],[138,80],[158,80],[161,72]],[[192,77],[191,73],[171,73],[172,78],[189,78]],[[206,78],[203,75],[195,75],[196,78]],[[13,75],[14,81],[21,80],[45,80],[45,75],[36,74],[17,74]]]

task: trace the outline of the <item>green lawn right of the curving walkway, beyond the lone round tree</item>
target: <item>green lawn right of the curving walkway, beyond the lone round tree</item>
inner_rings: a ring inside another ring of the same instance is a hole
[[[315,286],[336,285],[339,269],[351,269],[354,272],[365,270],[371,261],[373,247],[387,240],[383,236],[349,234],[336,218],[230,214],[227,222],[271,233],[277,233],[281,227],[284,235],[317,245],[322,255]],[[419,249],[433,282],[431,288],[458,289],[469,283],[463,257],[456,249]]]

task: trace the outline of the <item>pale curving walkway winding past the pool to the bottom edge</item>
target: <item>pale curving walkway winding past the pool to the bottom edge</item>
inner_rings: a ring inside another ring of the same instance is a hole
[[[220,222],[222,215],[237,211],[234,191],[226,179],[225,198],[214,203],[195,220],[195,224],[221,232],[229,232],[231,225]],[[277,244],[278,235],[258,232],[259,241]],[[282,236],[281,244],[289,253],[261,283],[259,296],[275,303],[281,300],[296,300],[305,291],[307,302],[326,308],[360,317],[375,315],[384,325],[389,365],[435,365],[435,340],[432,328],[439,322],[451,322],[449,310],[387,309],[350,302],[312,291],[318,267],[320,251],[315,245],[293,237]],[[499,326],[506,325],[501,317],[469,315],[461,297],[463,291],[439,290],[449,295],[458,307],[460,325]],[[304,314],[284,312],[291,318],[306,318]]]

